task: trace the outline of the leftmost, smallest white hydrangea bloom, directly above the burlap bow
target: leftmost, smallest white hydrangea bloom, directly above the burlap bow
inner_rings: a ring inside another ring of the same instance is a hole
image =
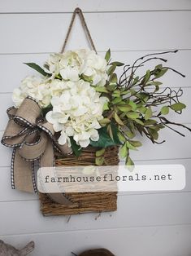
[[[37,100],[41,108],[46,108],[50,104],[50,85],[43,77],[25,77],[20,87],[13,91],[12,99],[16,108],[20,107],[23,100],[31,96]]]

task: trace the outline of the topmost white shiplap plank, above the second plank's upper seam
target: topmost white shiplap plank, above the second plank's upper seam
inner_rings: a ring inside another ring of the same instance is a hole
[[[1,0],[0,12],[71,12],[76,7],[83,11],[150,11],[150,10],[186,10],[191,9],[191,3],[186,0]]]

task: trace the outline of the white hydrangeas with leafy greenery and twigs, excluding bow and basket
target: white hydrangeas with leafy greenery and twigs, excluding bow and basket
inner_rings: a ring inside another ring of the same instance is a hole
[[[86,49],[52,54],[43,68],[28,63],[41,76],[24,78],[12,99],[16,108],[28,96],[35,99],[41,115],[53,125],[59,144],[67,143],[76,156],[89,145],[98,147],[95,163],[102,165],[105,148],[119,145],[120,156],[132,165],[129,150],[141,146],[134,139],[137,133],[158,143],[159,130],[175,130],[169,125],[189,129],[166,117],[170,111],[181,113],[186,107],[179,101],[182,90],[161,88],[159,81],[168,70],[184,75],[163,64],[150,68],[141,77],[137,75],[151,60],[166,63],[158,55],[171,52],[176,51],[145,55],[132,65],[111,61],[110,50],[105,58]],[[120,66],[124,71],[118,78],[115,69]]]

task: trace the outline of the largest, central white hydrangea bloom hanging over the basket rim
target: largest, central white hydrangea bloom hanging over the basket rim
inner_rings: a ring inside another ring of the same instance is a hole
[[[46,120],[53,124],[56,132],[61,132],[59,143],[64,144],[73,137],[80,147],[89,145],[90,139],[98,141],[99,120],[102,117],[105,97],[100,97],[89,82],[70,82],[62,95],[53,96],[53,110],[46,114]]]

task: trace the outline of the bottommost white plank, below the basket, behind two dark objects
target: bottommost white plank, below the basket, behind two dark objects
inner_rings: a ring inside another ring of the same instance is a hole
[[[70,225],[70,223],[67,223]],[[31,256],[80,254],[86,249],[107,248],[117,256],[175,256],[189,255],[191,225],[141,227],[75,232],[51,232],[0,236],[15,247],[22,248],[28,241],[35,242]],[[141,249],[140,249],[141,248]]]

